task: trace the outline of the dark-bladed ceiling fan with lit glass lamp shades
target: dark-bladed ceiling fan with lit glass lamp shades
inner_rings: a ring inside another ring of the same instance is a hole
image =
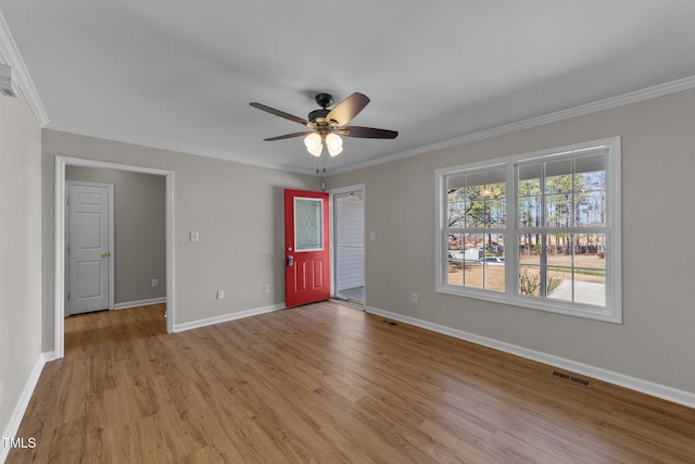
[[[346,124],[352,121],[364,108],[369,103],[367,96],[354,92],[332,110],[329,110],[333,103],[333,97],[330,93],[318,93],[316,96],[316,103],[321,106],[319,110],[314,110],[308,113],[306,120],[286,113],[280,110],[276,110],[270,106],[266,106],[261,103],[249,103],[253,108],[275,114],[276,116],[285,117],[286,120],[293,121],[307,127],[307,130],[301,133],[286,134],[283,136],[270,137],[264,140],[283,140],[292,137],[304,137],[304,145],[306,150],[314,156],[320,156],[324,150],[324,141],[328,148],[328,153],[331,156],[336,156],[343,151],[343,141],[340,136],[343,137],[356,137],[356,138],[374,138],[374,139],[394,139],[399,133],[395,130],[377,129],[374,127],[361,127],[361,126],[348,126]]]

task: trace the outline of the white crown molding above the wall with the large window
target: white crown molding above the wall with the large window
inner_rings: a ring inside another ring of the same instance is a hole
[[[390,154],[387,156],[381,156],[376,160],[351,164],[350,166],[332,171],[331,175],[348,173],[351,171],[357,171],[365,167],[371,167],[379,164],[390,163],[392,161],[404,160],[406,158],[416,156],[418,154],[431,153],[437,150],[443,150],[446,148],[452,148],[452,147],[460,146],[464,143],[484,140],[484,139],[501,136],[504,134],[528,129],[531,127],[538,127],[544,124],[556,123],[556,122],[569,120],[572,117],[584,116],[586,114],[597,113],[599,111],[611,110],[614,108],[624,106],[627,104],[637,103],[641,101],[667,96],[670,93],[680,92],[683,90],[691,90],[693,88],[695,88],[695,76],[690,76],[683,79],[660,84],[658,86],[648,87],[646,89],[636,90],[636,91],[624,93],[618,97],[611,97],[611,98],[599,100],[593,103],[587,103],[580,106],[557,111],[555,113],[545,114],[543,116],[532,117],[530,120],[523,120],[517,123],[506,124],[504,126],[498,126],[498,127],[493,127],[491,129],[471,133],[462,137],[456,137],[453,139],[441,141],[441,142],[426,145],[424,147],[415,148],[413,150],[406,150],[406,151]]]

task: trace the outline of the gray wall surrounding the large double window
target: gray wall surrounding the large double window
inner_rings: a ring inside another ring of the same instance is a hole
[[[366,185],[378,237],[367,305],[695,392],[694,128],[688,90],[327,178]],[[611,136],[622,136],[622,325],[434,291],[435,170]]]

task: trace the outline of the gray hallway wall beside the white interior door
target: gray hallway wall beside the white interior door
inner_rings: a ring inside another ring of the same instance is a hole
[[[166,297],[165,177],[66,166],[65,179],[114,186],[115,303]],[[152,287],[152,279],[160,286]]]

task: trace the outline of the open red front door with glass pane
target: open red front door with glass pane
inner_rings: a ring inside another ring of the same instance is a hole
[[[328,193],[285,190],[287,308],[330,298]]]

